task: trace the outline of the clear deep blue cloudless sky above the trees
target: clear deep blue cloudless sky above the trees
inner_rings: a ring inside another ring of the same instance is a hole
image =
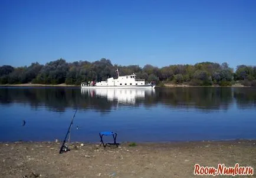
[[[0,0],[0,65],[256,65],[255,0]]]

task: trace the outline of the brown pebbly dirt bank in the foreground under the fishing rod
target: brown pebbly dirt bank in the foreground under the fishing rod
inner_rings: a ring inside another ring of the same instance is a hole
[[[239,163],[253,167],[255,172],[255,143],[121,143],[117,148],[104,149],[97,143],[81,146],[76,142],[69,144],[71,150],[63,154],[58,153],[61,143],[0,143],[0,177],[196,177],[195,164],[217,167],[219,163],[232,167]]]

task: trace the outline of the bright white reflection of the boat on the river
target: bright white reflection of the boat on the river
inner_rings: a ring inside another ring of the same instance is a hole
[[[90,97],[107,97],[107,100],[118,103],[135,104],[136,99],[144,100],[146,95],[155,94],[155,89],[81,88],[81,94],[88,94]]]

